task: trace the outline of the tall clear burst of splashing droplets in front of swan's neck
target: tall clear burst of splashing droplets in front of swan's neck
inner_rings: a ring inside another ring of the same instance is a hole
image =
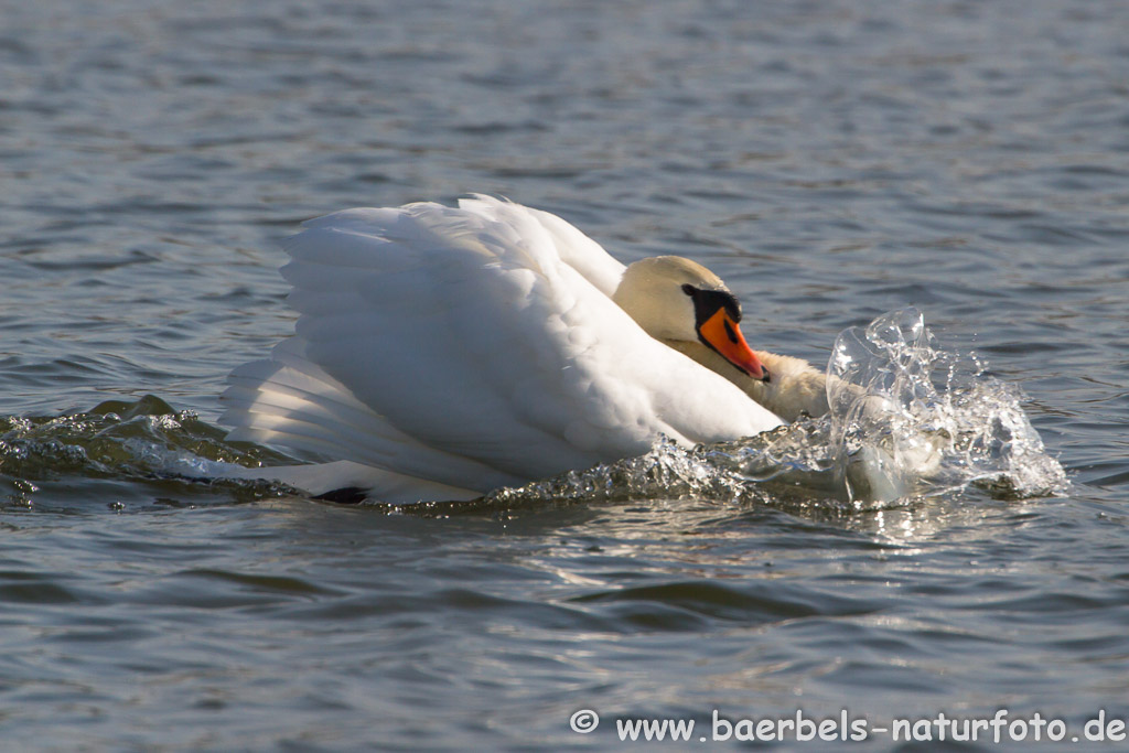
[[[969,484],[1023,498],[1065,487],[1021,392],[988,376],[974,354],[939,348],[914,308],[837,338],[828,402],[835,473],[850,499]]]

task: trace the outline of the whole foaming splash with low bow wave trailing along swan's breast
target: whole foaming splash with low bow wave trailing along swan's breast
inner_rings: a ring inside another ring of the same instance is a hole
[[[1066,487],[1017,388],[974,354],[942,349],[913,308],[842,332],[826,369],[825,415],[756,437],[638,458],[495,492],[525,499],[697,496],[879,507],[975,487],[1000,499]]]

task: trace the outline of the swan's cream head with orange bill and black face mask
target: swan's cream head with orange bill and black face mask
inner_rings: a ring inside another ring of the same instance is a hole
[[[737,323],[741,304],[721,279],[682,256],[653,256],[628,266],[612,296],[656,340],[701,343],[754,379],[769,373]]]

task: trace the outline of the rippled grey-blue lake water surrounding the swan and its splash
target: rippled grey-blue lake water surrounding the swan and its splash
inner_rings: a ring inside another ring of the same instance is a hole
[[[1001,709],[945,750],[1123,746],[1084,730],[1129,719],[1129,5],[3,0],[0,82],[6,750],[704,748],[715,710],[925,750],[878,729]],[[390,510],[150,472],[278,459],[217,396],[292,327],[300,220],[471,191],[702,261],[817,364],[916,306],[1069,484]]]

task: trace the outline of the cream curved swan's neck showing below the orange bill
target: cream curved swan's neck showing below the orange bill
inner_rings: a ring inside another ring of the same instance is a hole
[[[803,359],[753,351],[771,375],[770,380],[764,383],[743,374],[701,343],[664,342],[729,379],[785,421],[795,421],[802,413],[823,415],[828,412],[826,377]]]

